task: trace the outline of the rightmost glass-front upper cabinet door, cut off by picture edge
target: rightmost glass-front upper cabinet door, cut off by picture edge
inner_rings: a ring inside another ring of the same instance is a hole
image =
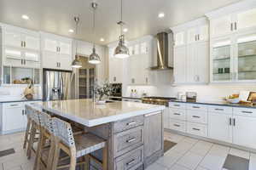
[[[238,36],[237,43],[237,72],[239,81],[256,79],[256,32]]]

